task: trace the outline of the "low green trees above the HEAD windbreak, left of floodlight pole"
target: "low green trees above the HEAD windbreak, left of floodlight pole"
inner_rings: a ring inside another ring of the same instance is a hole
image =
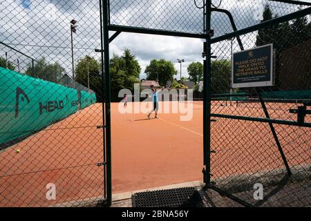
[[[32,70],[32,63],[28,64],[26,75],[37,77],[45,81],[57,82],[65,73],[65,69],[58,63],[49,64],[45,57],[41,57],[39,62],[35,61],[35,66]]]

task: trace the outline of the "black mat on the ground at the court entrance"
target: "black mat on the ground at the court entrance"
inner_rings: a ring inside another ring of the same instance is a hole
[[[133,207],[202,207],[194,187],[147,191],[132,195]]]

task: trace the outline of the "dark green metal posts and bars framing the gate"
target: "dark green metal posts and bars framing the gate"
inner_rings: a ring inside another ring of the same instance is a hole
[[[303,6],[311,6],[311,3],[303,2],[303,1],[285,1],[285,0],[271,0],[271,1],[279,1],[283,3],[292,3],[297,5]],[[213,189],[218,193],[227,196],[228,198],[243,204],[244,206],[252,206],[241,200],[234,195],[226,193],[222,189],[218,189],[218,187],[214,186],[211,183],[211,122],[213,121],[211,117],[218,117],[218,118],[227,118],[227,119],[241,119],[245,121],[252,121],[252,122],[266,122],[270,124],[270,129],[274,135],[274,140],[279,148],[279,152],[285,164],[285,167],[288,171],[288,175],[291,174],[290,168],[287,164],[286,157],[282,151],[281,145],[279,145],[278,137],[274,131],[273,124],[284,124],[284,125],[291,125],[291,126],[304,126],[304,127],[311,127],[311,123],[301,122],[297,120],[288,121],[288,120],[281,120],[281,119],[270,119],[269,115],[267,114],[267,110],[265,108],[265,103],[263,99],[261,99],[260,94],[256,94],[256,96],[261,100],[261,105],[263,111],[265,112],[265,118],[259,117],[245,117],[245,116],[236,116],[236,115],[222,115],[211,113],[211,100],[218,97],[218,95],[211,95],[211,44],[215,44],[219,41],[223,41],[225,39],[230,39],[232,37],[237,37],[238,44],[243,50],[243,44],[240,39],[240,35],[247,34],[248,32],[254,32],[261,28],[266,28],[268,26],[279,24],[285,21],[290,21],[292,19],[296,19],[299,17],[303,17],[305,15],[311,14],[311,7],[305,8],[303,10],[299,10],[297,12],[292,12],[289,15],[285,15],[282,17],[277,17],[262,23],[258,23],[254,26],[243,28],[241,30],[237,30],[234,19],[231,13],[227,10],[219,9],[219,8],[212,8],[211,7],[211,0],[205,1],[204,7],[204,15],[205,15],[205,33],[204,34],[195,34],[189,32],[176,32],[176,31],[169,31],[169,30],[159,30],[159,29],[151,29],[151,28],[137,28],[137,27],[130,27],[130,26],[118,26],[118,25],[111,25],[110,23],[110,1],[109,0],[100,0],[100,15],[101,15],[101,36],[102,36],[102,48],[100,50],[96,50],[97,52],[102,53],[102,70],[104,70],[104,78],[103,78],[103,86],[104,86],[104,102],[103,102],[103,133],[104,133],[104,195],[106,199],[106,206],[111,205],[112,200],[112,183],[111,183],[111,77],[109,73],[109,43],[120,35],[121,32],[133,32],[133,33],[141,33],[141,34],[151,34],[151,35],[167,35],[167,36],[174,36],[174,37],[191,37],[191,38],[198,38],[198,39],[205,39],[205,46],[203,51],[203,56],[205,57],[204,60],[204,102],[203,102],[203,180],[205,182],[205,187],[207,189]],[[214,30],[211,30],[211,12],[223,12],[229,17],[229,21],[232,24],[232,28],[234,32],[222,35],[220,37],[215,37],[211,39],[214,35]],[[109,38],[109,31],[115,31],[115,34]],[[220,95],[223,97],[224,95]],[[225,96],[238,96],[238,95],[225,95]],[[300,111],[298,114],[303,115],[303,111]]]

